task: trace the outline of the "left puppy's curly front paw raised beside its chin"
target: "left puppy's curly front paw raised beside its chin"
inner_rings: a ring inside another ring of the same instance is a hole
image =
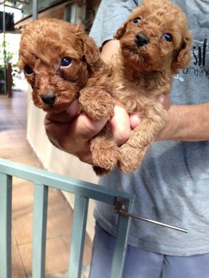
[[[111,95],[100,88],[82,89],[79,103],[82,111],[94,120],[108,117],[114,109],[114,100]]]

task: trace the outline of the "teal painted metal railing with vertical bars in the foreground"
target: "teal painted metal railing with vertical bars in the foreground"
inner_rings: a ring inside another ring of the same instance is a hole
[[[0,158],[0,278],[10,278],[12,273],[11,215],[13,177],[33,181],[34,185],[33,278],[45,277],[47,197],[49,187],[75,194],[68,270],[68,277],[70,278],[81,277],[89,199],[95,199],[115,207],[117,206],[116,213],[120,211],[120,206],[123,206],[123,210],[125,206],[125,211],[130,212],[132,204],[134,203],[134,196],[128,193],[123,193],[118,190],[109,190],[109,188],[104,186],[97,186],[93,183],[87,183],[77,179],[70,179],[59,174]],[[120,202],[120,200],[124,202]],[[121,278],[123,275],[130,219],[131,218],[118,213],[118,229],[112,260],[111,278]]]

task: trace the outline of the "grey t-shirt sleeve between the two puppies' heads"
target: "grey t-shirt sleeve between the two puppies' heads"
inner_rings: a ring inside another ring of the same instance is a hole
[[[137,8],[134,0],[102,0],[98,8],[89,36],[93,38],[98,47],[113,39],[114,33]]]

